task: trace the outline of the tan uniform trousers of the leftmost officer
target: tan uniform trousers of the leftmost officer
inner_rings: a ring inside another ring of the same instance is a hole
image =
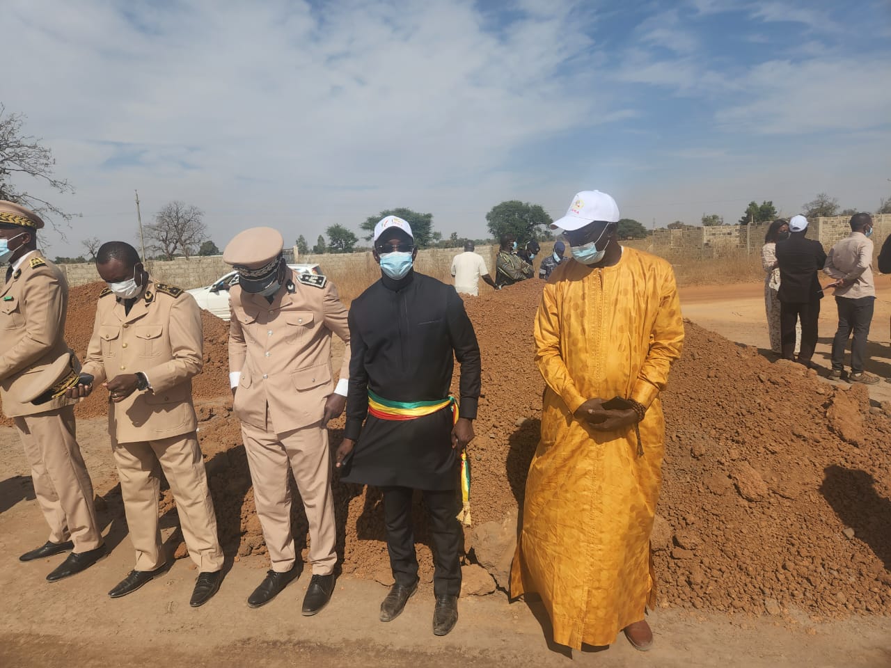
[[[102,533],[93,505],[93,483],[76,438],[74,406],[14,418],[31,465],[37,503],[50,525],[51,542],[74,542],[75,552],[95,550]]]

